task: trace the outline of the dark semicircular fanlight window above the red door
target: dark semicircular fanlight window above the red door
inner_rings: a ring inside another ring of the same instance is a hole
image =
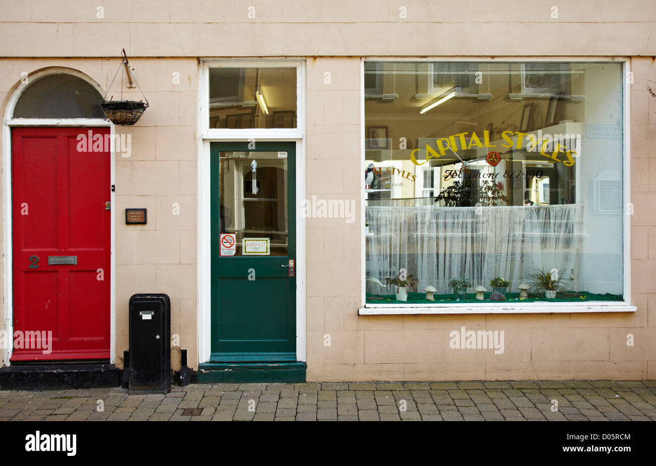
[[[102,95],[87,81],[73,75],[49,75],[34,81],[22,93],[14,118],[102,118]]]

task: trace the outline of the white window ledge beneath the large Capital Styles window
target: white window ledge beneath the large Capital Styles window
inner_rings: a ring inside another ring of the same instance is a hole
[[[410,307],[400,305],[374,305],[358,309],[359,315],[413,315],[413,314],[569,314],[592,312],[635,312],[636,306],[623,302],[585,303],[578,305],[432,305]]]

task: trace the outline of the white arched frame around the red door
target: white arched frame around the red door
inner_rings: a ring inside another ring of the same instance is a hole
[[[114,137],[114,125],[108,119],[96,118],[14,118],[14,108],[23,92],[30,87],[35,81],[41,78],[52,75],[72,75],[79,77],[87,83],[91,84],[100,95],[103,94],[102,88],[91,77],[72,68],[51,67],[35,71],[28,75],[25,81],[22,81],[16,89],[14,89],[5,113],[3,115],[2,125],[2,197],[3,197],[3,285],[4,285],[4,305],[3,305],[3,320],[4,325],[0,328],[4,330],[5,341],[13,342],[14,334],[14,270],[13,270],[13,241],[12,241],[12,177],[11,177],[11,128],[18,126],[96,126],[110,128],[110,135]],[[110,153],[110,184],[115,184],[115,156]],[[110,191],[110,202],[113,206],[115,203],[115,193]],[[115,215],[112,215],[110,227],[110,364],[116,362],[116,254],[115,254]],[[3,347],[3,359],[5,366],[10,365],[9,358],[13,353],[13,345],[6,345]],[[1,365],[1,364],[0,364]]]

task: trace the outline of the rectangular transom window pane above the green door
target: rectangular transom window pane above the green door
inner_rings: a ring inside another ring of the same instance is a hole
[[[209,68],[209,128],[296,128],[296,68]]]

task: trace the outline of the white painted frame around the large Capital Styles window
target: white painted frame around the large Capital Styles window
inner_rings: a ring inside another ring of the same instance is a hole
[[[621,63],[623,69],[623,187],[625,199],[625,211],[627,210],[628,203],[630,202],[630,171],[631,171],[631,157],[630,157],[630,88],[626,73],[629,71],[630,59],[628,57],[556,57],[556,56],[543,56],[543,57],[499,57],[499,59],[491,58],[489,56],[482,57],[362,57],[360,58],[360,163],[365,161],[365,109],[364,109],[364,64],[365,62],[607,62],[607,63]],[[361,309],[359,315],[396,315],[396,314],[487,314],[487,313],[580,313],[580,312],[634,312],[636,307],[631,305],[631,230],[630,218],[625,214],[624,221],[624,238],[623,238],[623,254],[624,254],[624,290],[623,296],[625,301],[608,301],[607,304],[590,305],[589,303],[551,303],[548,306],[540,305],[508,305],[507,303],[485,303],[472,307],[466,303],[449,303],[449,304],[426,304],[422,307],[403,306],[398,304],[374,304],[367,303],[367,250],[365,246],[365,199],[364,199],[364,181],[360,180],[361,187],[361,252],[360,257],[362,261],[362,293],[361,293]],[[577,188],[578,189],[578,188]],[[577,191],[578,195],[578,191]],[[578,197],[577,197],[578,199]]]

